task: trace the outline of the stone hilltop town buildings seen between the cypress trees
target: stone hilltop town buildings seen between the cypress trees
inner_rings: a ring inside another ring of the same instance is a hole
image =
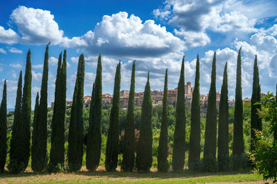
[[[190,81],[188,81],[185,85],[185,99],[186,99],[186,109],[190,110],[192,96],[193,96],[194,87],[191,86]],[[261,94],[261,97],[266,94]],[[154,90],[151,92],[152,105],[161,105],[163,103],[163,91]],[[121,90],[120,91],[120,108],[127,108],[129,99],[129,90]],[[107,108],[107,105],[112,104],[113,95],[108,93],[102,94],[102,108]],[[177,101],[177,88],[173,90],[168,90],[168,104],[175,105]],[[251,98],[242,99],[243,103],[247,101],[251,101]],[[84,96],[84,108],[89,107],[91,103],[91,96]],[[143,104],[143,92],[136,92],[134,97],[134,105],[135,107],[141,107]],[[216,104],[217,107],[220,105],[220,92],[216,93]],[[66,106],[71,106],[72,101],[66,101]],[[208,94],[200,94],[200,105],[201,105],[201,113],[206,114],[206,109],[208,105]],[[235,105],[235,101],[229,101],[229,108]],[[54,107],[54,102],[51,103],[51,107]]]

